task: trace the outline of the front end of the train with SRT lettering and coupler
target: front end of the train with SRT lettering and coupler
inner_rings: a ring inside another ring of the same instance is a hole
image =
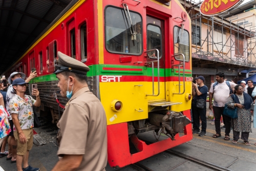
[[[191,23],[182,5],[105,0],[97,6],[109,164],[123,167],[191,140]]]

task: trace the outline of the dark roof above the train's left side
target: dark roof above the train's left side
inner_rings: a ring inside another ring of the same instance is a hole
[[[0,74],[73,0],[0,1]]]

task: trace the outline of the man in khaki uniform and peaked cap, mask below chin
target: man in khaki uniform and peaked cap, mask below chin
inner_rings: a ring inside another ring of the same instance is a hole
[[[57,124],[57,154],[62,158],[53,170],[105,170],[106,116],[99,99],[89,91],[86,74],[90,69],[61,52],[55,69],[60,94],[70,100]]]

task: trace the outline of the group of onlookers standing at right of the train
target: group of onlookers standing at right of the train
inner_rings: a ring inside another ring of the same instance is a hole
[[[191,113],[193,116],[193,134],[206,135],[206,99],[208,88],[204,85],[204,77],[198,76],[193,82],[193,102]],[[251,133],[251,117],[253,116],[256,89],[252,80],[241,81],[236,84],[225,79],[224,73],[216,74],[216,82],[212,83],[209,90],[209,110],[214,113],[216,134],[212,138],[221,137],[221,128],[225,129],[224,140],[230,140],[230,131],[233,131],[232,143],[237,143],[241,138],[245,145]],[[256,114],[255,114],[256,115]],[[221,118],[224,126],[221,127]],[[201,123],[200,123],[201,120]],[[254,120],[256,127],[256,121]],[[200,124],[201,131],[200,131]],[[241,133],[241,137],[240,137]],[[254,143],[256,145],[256,143]]]

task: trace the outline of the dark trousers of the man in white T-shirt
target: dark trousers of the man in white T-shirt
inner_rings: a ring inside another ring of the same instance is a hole
[[[223,120],[225,120],[225,135],[229,136],[230,133],[230,126],[231,126],[231,118],[223,115],[224,107],[217,107],[214,106],[214,117],[215,117],[215,130],[216,134],[221,134],[221,115],[223,117]]]

